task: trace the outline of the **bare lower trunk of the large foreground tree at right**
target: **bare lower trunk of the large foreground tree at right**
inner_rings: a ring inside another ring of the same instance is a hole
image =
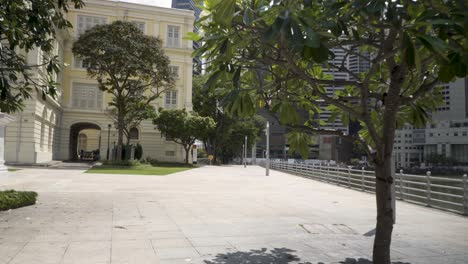
[[[390,244],[394,223],[394,208],[392,194],[393,166],[391,156],[386,157],[382,164],[376,165],[375,196],[377,201],[377,226],[375,228],[373,262],[390,264]]]

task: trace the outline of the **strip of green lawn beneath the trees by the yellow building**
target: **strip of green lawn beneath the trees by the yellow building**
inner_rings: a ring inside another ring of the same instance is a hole
[[[168,175],[179,171],[193,169],[193,167],[176,167],[176,166],[98,166],[91,168],[86,173],[104,173],[104,174],[135,174],[135,175]]]

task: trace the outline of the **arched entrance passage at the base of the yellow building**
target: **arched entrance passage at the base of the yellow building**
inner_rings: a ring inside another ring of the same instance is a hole
[[[70,127],[70,160],[98,160],[101,128],[93,123],[76,123]]]

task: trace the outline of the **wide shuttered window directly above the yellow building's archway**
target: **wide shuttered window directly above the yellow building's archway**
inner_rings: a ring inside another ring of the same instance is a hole
[[[74,83],[72,107],[78,109],[102,109],[102,91],[95,84]]]

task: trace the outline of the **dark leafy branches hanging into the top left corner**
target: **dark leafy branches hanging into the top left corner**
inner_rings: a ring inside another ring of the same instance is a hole
[[[44,99],[55,97],[57,83],[51,76],[61,65],[52,51],[57,30],[72,26],[63,15],[70,3],[83,6],[82,0],[0,0],[0,112],[21,110],[33,88]],[[43,56],[31,64],[25,54],[34,49]],[[38,80],[33,71],[39,68],[44,74]]]

